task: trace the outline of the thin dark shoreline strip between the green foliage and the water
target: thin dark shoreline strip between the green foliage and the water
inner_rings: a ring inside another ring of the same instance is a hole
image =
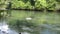
[[[18,8],[11,8],[11,9],[5,9],[5,10],[25,10],[25,11],[39,11],[39,12],[60,12],[60,9],[58,10],[45,10],[45,9],[18,9]],[[0,9],[0,11],[4,11],[4,9]]]

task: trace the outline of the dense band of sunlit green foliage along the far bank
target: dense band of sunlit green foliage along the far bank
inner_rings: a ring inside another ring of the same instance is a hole
[[[60,9],[60,0],[0,0],[0,4],[8,4],[8,2],[12,3],[12,8],[18,9],[48,9],[54,10],[56,6],[59,5]],[[7,6],[7,5],[6,5]]]

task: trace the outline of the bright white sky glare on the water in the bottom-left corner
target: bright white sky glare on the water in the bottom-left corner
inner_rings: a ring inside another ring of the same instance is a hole
[[[2,32],[4,30],[8,30],[6,31],[8,34],[18,34],[15,30],[9,28],[9,25],[7,24],[7,21],[5,19],[0,20],[0,30],[0,34],[6,34]]]

